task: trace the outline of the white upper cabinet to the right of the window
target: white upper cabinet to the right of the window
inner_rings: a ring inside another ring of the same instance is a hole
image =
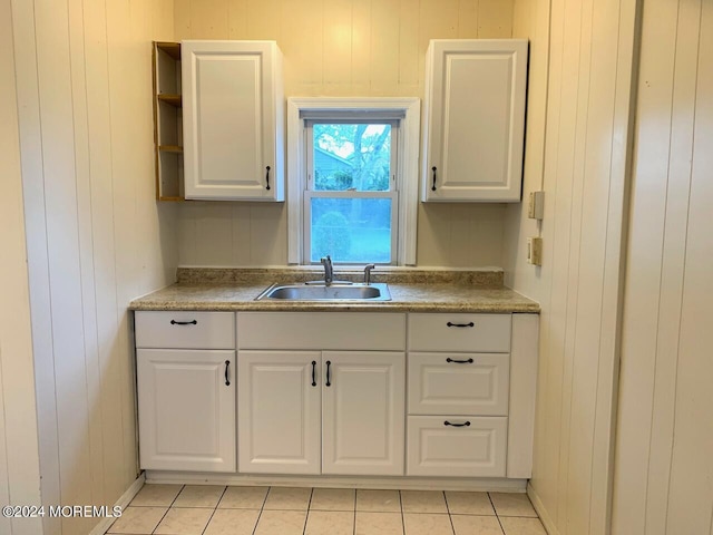
[[[431,40],[422,201],[519,202],[527,40]]]

